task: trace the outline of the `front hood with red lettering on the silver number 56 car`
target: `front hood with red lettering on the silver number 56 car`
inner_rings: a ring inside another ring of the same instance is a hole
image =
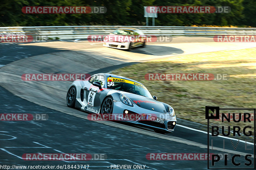
[[[164,104],[162,102],[137,94],[125,93],[124,95],[131,99],[132,102],[134,102],[137,106],[141,108],[159,113],[166,113],[166,108],[164,107]]]

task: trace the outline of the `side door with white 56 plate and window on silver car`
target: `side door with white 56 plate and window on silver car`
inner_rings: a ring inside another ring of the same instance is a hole
[[[92,83],[96,81],[100,82],[102,89],[99,89],[99,87],[92,85]],[[85,94],[87,106],[99,110],[101,106],[100,96],[104,95],[103,89],[105,87],[105,78],[103,75],[95,75],[89,79],[89,83],[91,85]]]

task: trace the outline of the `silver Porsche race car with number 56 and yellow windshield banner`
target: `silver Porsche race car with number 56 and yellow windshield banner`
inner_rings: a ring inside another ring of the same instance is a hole
[[[177,122],[174,109],[152,97],[143,84],[114,74],[99,73],[88,81],[74,81],[68,89],[67,105],[101,118],[111,117],[103,120],[122,120],[157,133],[174,131]]]

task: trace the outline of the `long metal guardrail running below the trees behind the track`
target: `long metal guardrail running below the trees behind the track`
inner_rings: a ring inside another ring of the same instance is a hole
[[[255,35],[256,28],[184,27],[184,26],[15,26],[0,27],[0,35],[32,35],[58,37],[60,39],[83,39],[88,35],[106,35],[117,28],[131,27],[156,36],[214,36]]]

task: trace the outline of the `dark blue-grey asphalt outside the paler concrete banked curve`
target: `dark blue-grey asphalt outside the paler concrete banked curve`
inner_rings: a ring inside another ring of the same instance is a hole
[[[201,42],[201,41],[199,41]],[[57,52],[60,49],[34,48],[23,46],[20,48],[15,43],[0,44],[0,66],[4,66],[16,60],[34,55]],[[92,48],[92,47],[90,47]],[[27,53],[29,51],[29,54]],[[120,67],[120,66],[119,66]],[[113,69],[113,68],[112,68]],[[100,72],[108,72],[109,69],[101,69]],[[189,128],[176,126],[174,133],[163,135],[168,138],[176,138],[177,141],[166,140],[154,135],[145,135],[134,131],[108,126],[103,123],[89,121],[74,115],[68,115],[47,107],[39,106],[33,102],[21,99],[0,86],[0,113],[1,114],[47,114],[45,121],[0,121],[0,165],[89,165],[88,169],[102,170],[113,169],[111,165],[132,165],[141,169],[207,169],[206,160],[148,160],[148,153],[207,153],[207,134]],[[179,124],[179,122],[177,122]],[[120,123],[117,123],[120,124]],[[131,126],[132,128],[132,126]],[[150,133],[154,134],[155,132]],[[192,141],[197,146],[186,144],[182,141]],[[214,147],[223,148],[227,152],[210,150],[210,153],[229,153],[233,146],[230,139],[215,137]],[[236,152],[253,154],[253,146],[239,142]],[[105,160],[87,161],[28,161],[21,157],[25,153],[89,153],[106,154]],[[230,155],[230,153],[229,153]],[[233,154],[231,154],[233,155]],[[248,163],[244,157],[236,158],[241,164]],[[211,161],[210,161],[211,163]],[[219,163],[224,165],[223,159]],[[229,157],[228,166],[232,167]],[[242,166],[242,165],[241,165]],[[244,167],[244,166],[243,166]],[[1,169],[1,168],[0,168]],[[4,169],[4,168],[3,168]],[[18,169],[18,168],[16,168]],[[119,167],[119,169],[121,169]],[[137,169],[137,168],[136,168]]]

